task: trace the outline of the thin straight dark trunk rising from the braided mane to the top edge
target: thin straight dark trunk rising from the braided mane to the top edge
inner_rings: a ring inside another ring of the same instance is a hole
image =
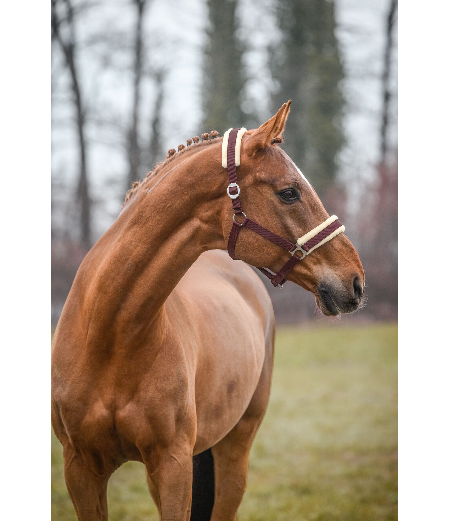
[[[136,39],[134,43],[134,69],[133,69],[133,92],[132,92],[132,121],[128,132],[128,188],[139,176],[141,148],[139,144],[139,112],[140,112],[140,84],[142,80],[142,21],[143,11],[147,0],[134,0],[137,7]]]

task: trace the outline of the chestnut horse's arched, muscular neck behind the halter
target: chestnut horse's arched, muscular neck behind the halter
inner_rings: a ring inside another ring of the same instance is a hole
[[[93,343],[124,345],[155,317],[163,321],[164,302],[198,256],[225,249],[220,159],[221,147],[211,144],[145,180],[86,256],[70,296]]]

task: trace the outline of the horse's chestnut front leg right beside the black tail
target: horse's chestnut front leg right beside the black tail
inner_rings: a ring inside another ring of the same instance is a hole
[[[144,457],[144,463],[161,521],[188,521],[192,500],[192,449],[153,450]]]

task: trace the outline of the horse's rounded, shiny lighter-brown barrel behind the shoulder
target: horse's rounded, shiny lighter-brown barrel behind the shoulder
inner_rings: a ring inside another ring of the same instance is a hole
[[[186,344],[195,342],[185,356],[194,361],[200,451],[236,425],[267,362],[271,370],[273,308],[257,274],[222,251],[202,254],[167,304],[170,320],[178,317],[178,330],[185,328]]]

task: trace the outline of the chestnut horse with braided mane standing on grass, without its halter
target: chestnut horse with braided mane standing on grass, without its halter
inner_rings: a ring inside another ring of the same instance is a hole
[[[293,239],[329,215],[276,144],[289,106],[244,133],[237,173],[246,214]],[[107,519],[108,479],[129,460],[144,463],[162,521],[235,519],[268,404],[275,328],[268,292],[245,263],[278,271],[290,255],[247,228],[236,243],[244,262],[220,251],[233,224],[222,142],[172,151],[138,183],[67,297],[53,341],[52,424],[80,521]],[[325,315],[354,311],[365,287],[343,233],[288,279]]]

